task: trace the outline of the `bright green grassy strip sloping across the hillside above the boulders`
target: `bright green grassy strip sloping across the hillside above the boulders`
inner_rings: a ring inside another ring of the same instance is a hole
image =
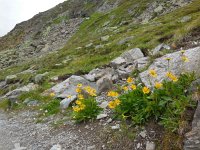
[[[139,47],[148,55],[149,51],[159,43],[165,42],[169,45],[179,43],[184,37],[193,32],[194,29],[200,27],[200,1],[198,0],[169,14],[158,16],[148,24],[129,23],[128,25],[120,26],[122,21],[134,21],[133,18],[146,9],[147,2],[149,1],[123,1],[119,7],[111,12],[92,14],[89,20],[85,20],[81,24],[77,33],[59,53],[52,53],[42,59],[5,69],[0,72],[0,80],[3,80],[6,75],[25,70],[31,64],[35,65],[39,73],[50,72],[50,76],[62,76],[77,71],[88,72],[95,67],[107,64],[110,60],[131,48]],[[137,11],[135,10],[133,14],[128,13],[128,9],[134,8],[135,4],[138,5]],[[186,15],[191,16],[191,20],[180,23],[179,20]],[[176,16],[176,19],[174,19],[174,16]],[[113,19],[111,19],[112,17]],[[118,32],[102,30],[102,26],[108,21],[108,27],[117,26]],[[100,37],[105,35],[110,35],[108,42],[100,40]],[[129,36],[134,36],[128,42],[130,44],[129,47],[127,44],[117,45],[117,42]],[[95,50],[94,47],[85,48],[85,45],[89,43],[93,43],[94,46],[103,44],[104,48],[98,50]],[[77,50],[77,47],[82,48]],[[61,63],[65,60],[66,56],[71,56],[73,59],[67,64],[56,67],[55,64]]]

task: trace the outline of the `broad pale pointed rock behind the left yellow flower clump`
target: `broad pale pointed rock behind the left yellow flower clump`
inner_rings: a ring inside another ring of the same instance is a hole
[[[66,98],[69,95],[77,95],[76,88],[78,84],[83,84],[83,86],[91,86],[94,89],[97,89],[96,84],[89,82],[81,76],[72,75],[65,81],[56,84],[49,91],[54,92],[56,97]]]

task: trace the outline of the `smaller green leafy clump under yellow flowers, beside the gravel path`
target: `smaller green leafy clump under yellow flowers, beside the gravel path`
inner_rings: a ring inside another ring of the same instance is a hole
[[[100,108],[95,100],[95,98],[91,97],[84,100],[79,100],[81,104],[73,107],[73,119],[77,122],[87,121],[89,119],[95,119],[97,115],[101,112],[102,108]],[[77,109],[83,107],[83,109]]]

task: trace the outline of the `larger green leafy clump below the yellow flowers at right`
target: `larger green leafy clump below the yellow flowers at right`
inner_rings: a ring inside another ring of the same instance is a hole
[[[164,81],[162,88],[144,94],[142,86],[119,97],[121,103],[115,108],[117,116],[131,118],[134,124],[157,120],[165,128],[177,131],[185,110],[194,103],[185,91],[194,80],[192,74],[182,74],[177,82]]]

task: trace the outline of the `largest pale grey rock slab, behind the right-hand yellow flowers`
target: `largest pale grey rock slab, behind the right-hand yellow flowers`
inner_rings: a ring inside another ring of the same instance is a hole
[[[158,76],[156,80],[158,82],[162,82],[164,79],[166,79],[166,72],[168,71],[168,61],[166,58],[172,58],[170,60],[170,71],[175,75],[180,75],[183,71],[184,72],[194,72],[196,77],[200,77],[200,47],[188,49],[185,51],[185,56],[188,57],[190,62],[183,62],[181,59],[181,52],[175,52],[170,53],[167,55],[164,55],[163,57],[157,58],[154,60],[153,64],[150,65],[148,70],[142,72],[139,74],[140,79],[142,82],[150,87],[150,85],[154,84],[154,80],[149,80],[149,70],[154,69]],[[151,82],[151,83],[150,83]]]

